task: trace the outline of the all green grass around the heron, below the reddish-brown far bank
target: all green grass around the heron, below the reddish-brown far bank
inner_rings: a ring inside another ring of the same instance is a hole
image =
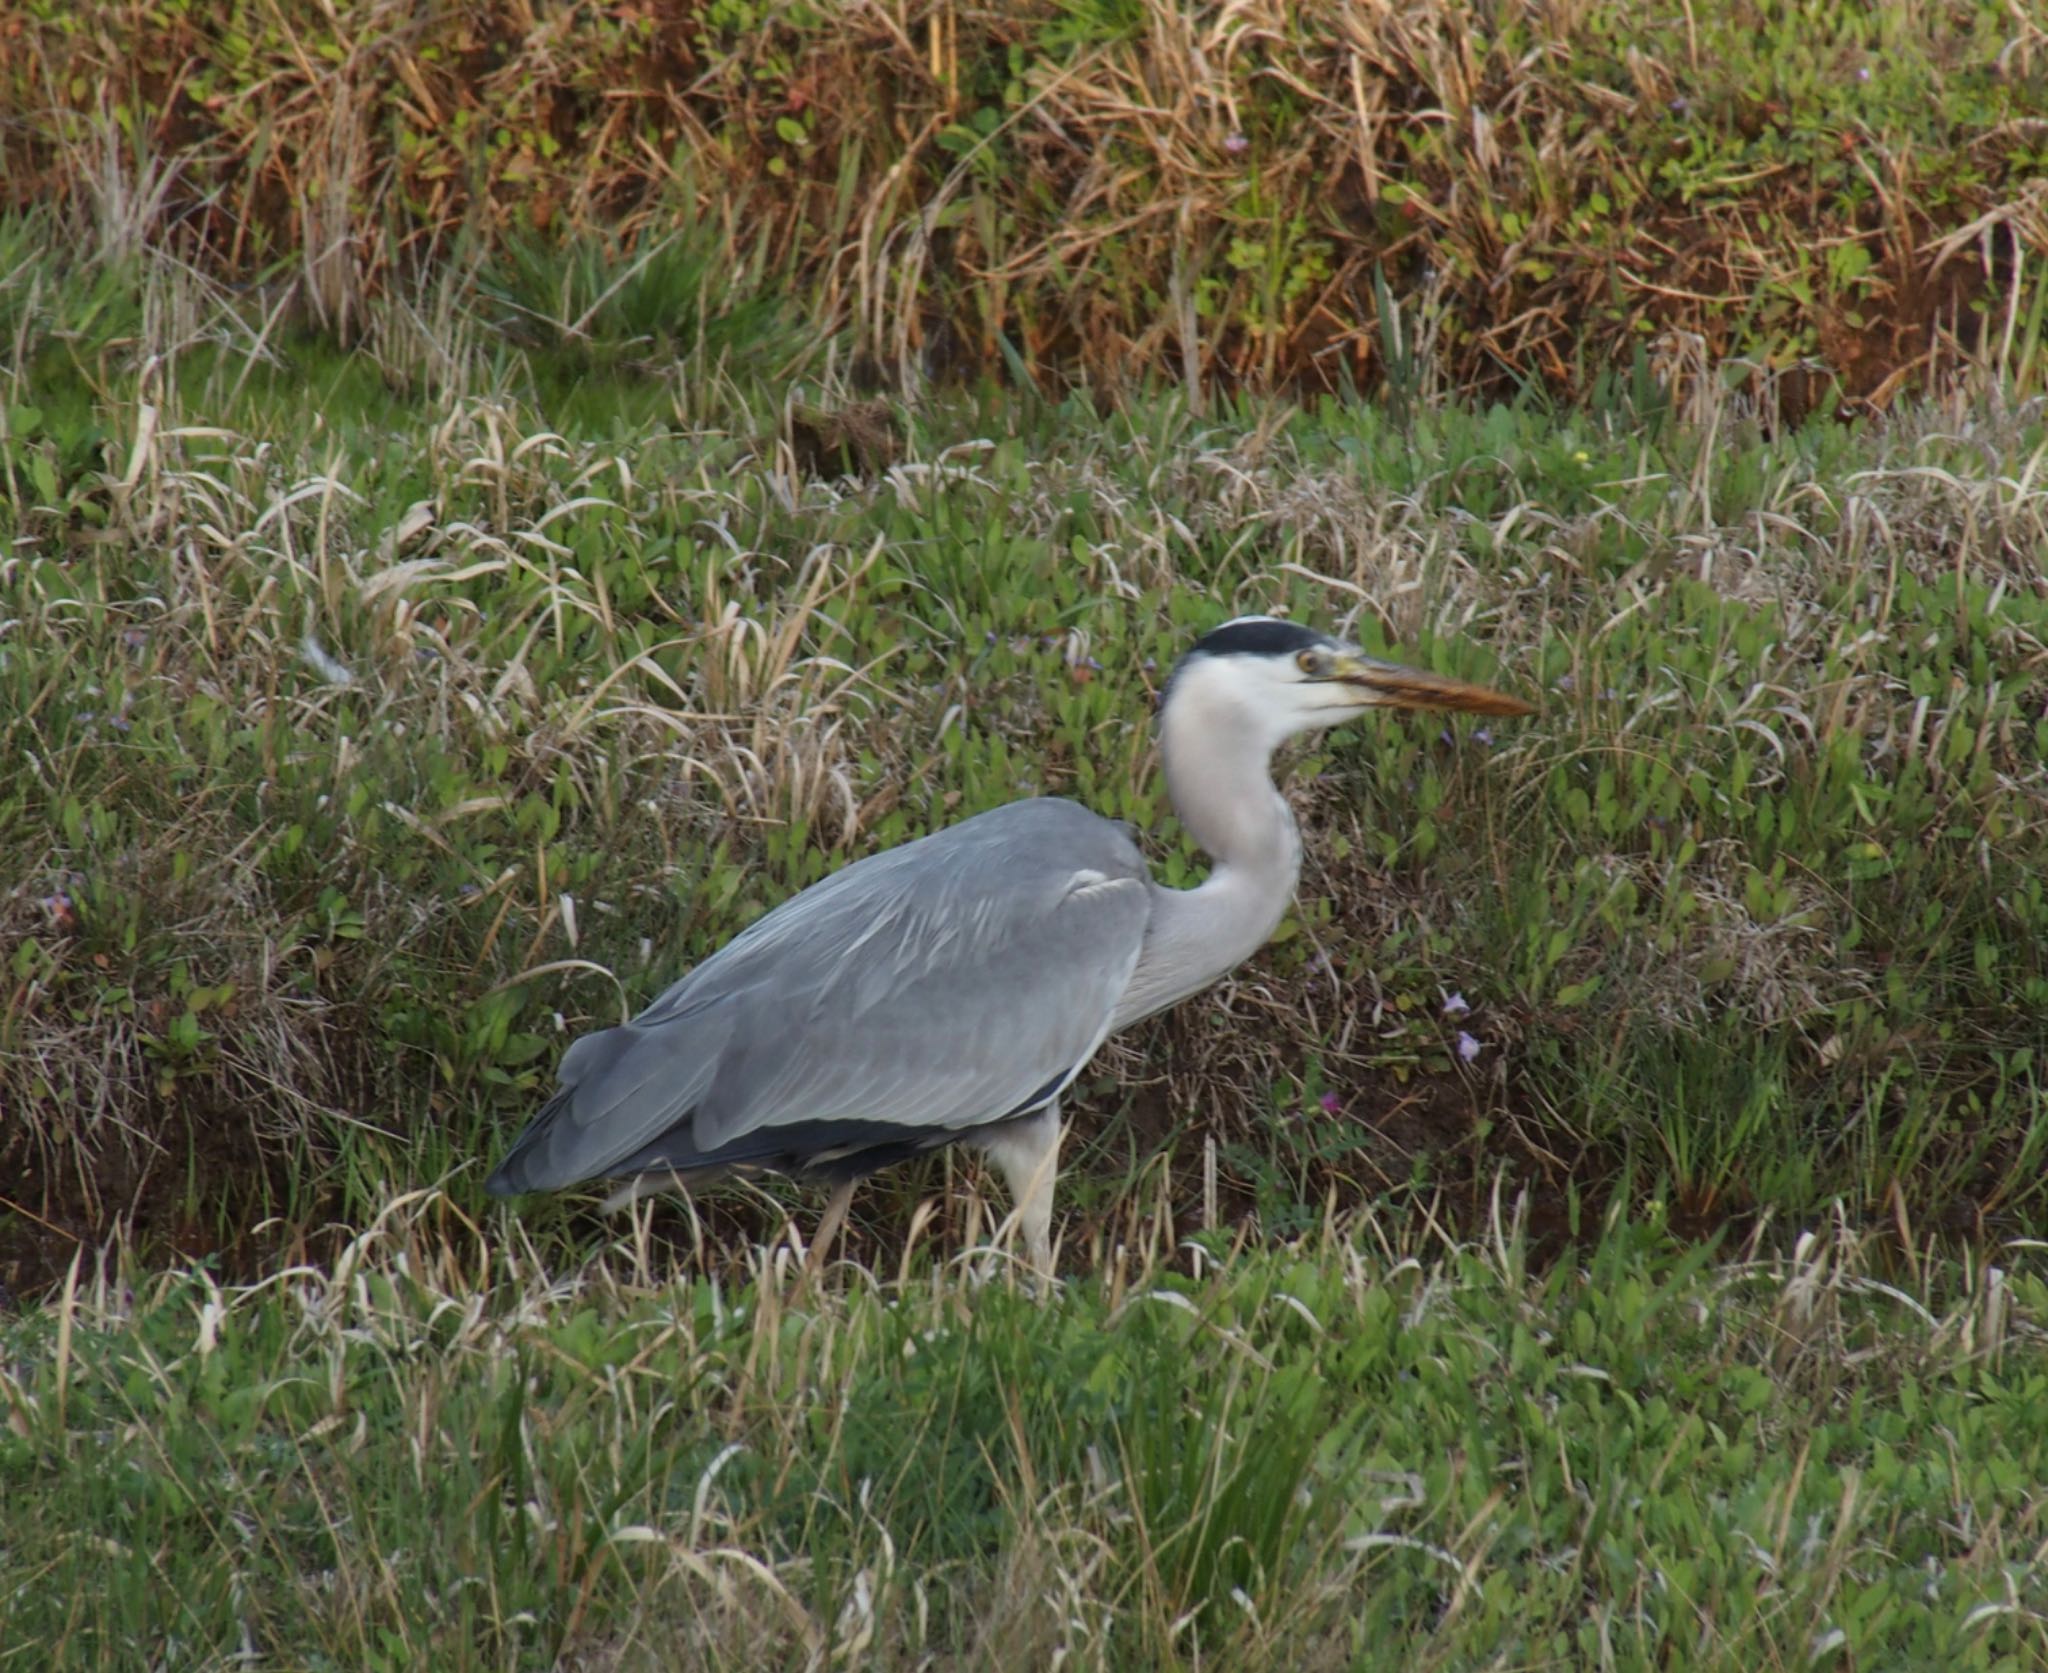
[[[63,231],[0,219],[0,1665],[2048,1655],[2009,362],[854,442],[766,252],[342,350]],[[1051,790],[1192,883],[1149,713],[1251,608],[1542,713],[1288,760],[1298,911],[1079,1087],[1059,1296],[958,1159],[825,1294],[788,1192],[485,1204],[573,1032],[856,854]]]

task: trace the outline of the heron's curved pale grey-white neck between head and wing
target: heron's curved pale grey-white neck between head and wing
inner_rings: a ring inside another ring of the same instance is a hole
[[[1257,952],[1294,899],[1300,833],[1272,782],[1274,739],[1202,704],[1169,709],[1165,790],[1214,862],[1198,889],[1153,889],[1153,917],[1116,1028],[1208,987]]]

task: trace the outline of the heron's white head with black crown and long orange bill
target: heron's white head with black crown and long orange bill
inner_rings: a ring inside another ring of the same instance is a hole
[[[1204,633],[1174,668],[1159,698],[1161,719],[1190,711],[1212,727],[1257,727],[1268,743],[1335,727],[1372,709],[1534,713],[1522,698],[1380,661],[1276,616],[1239,616]]]

